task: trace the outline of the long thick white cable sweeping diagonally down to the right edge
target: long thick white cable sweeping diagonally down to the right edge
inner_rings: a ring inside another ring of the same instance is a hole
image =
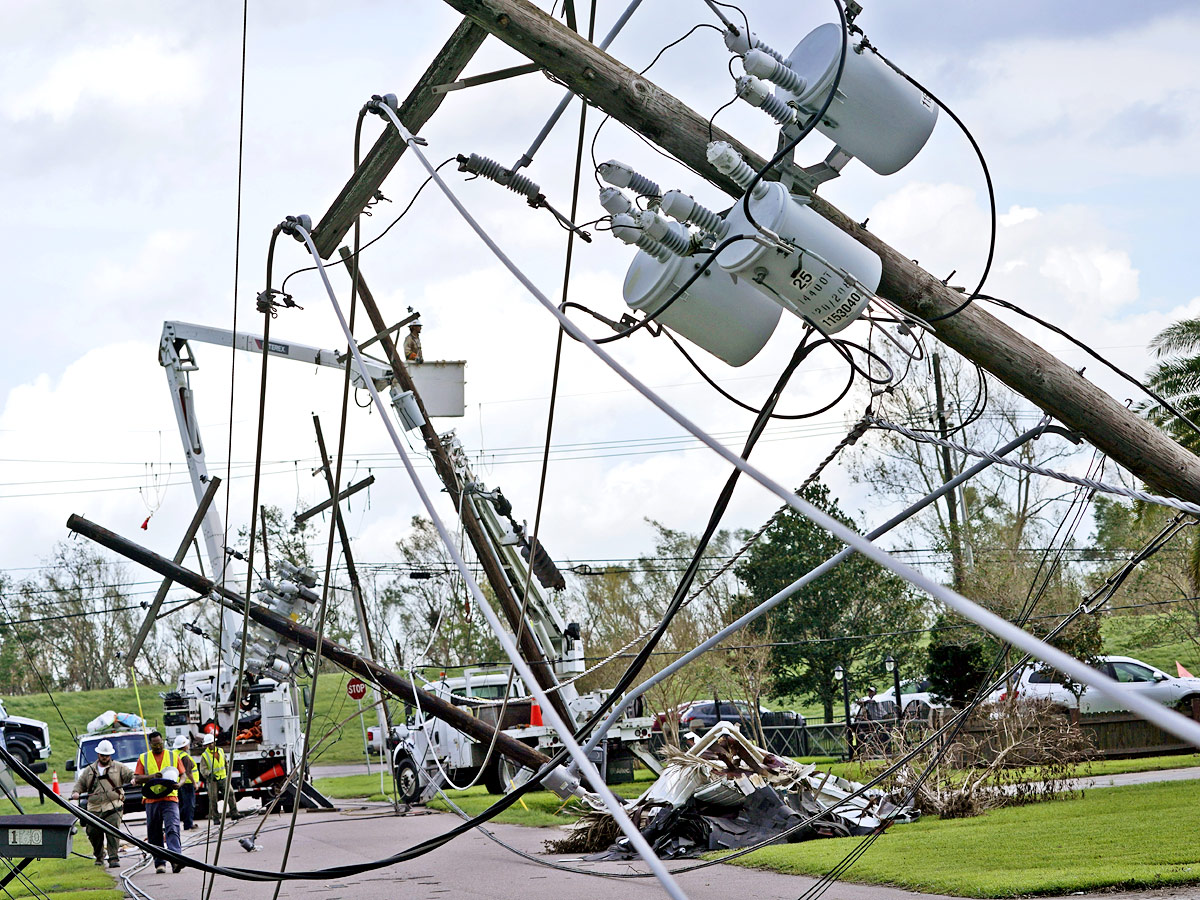
[[[383,112],[391,122],[396,126],[400,132],[401,138],[408,144],[409,149],[420,161],[421,166],[425,167],[426,172],[430,173],[430,178],[437,182],[438,187],[446,196],[446,199],[454,205],[458,214],[466,220],[467,224],[479,235],[480,240],[487,245],[487,248],[492,251],[497,259],[512,274],[512,276],[520,281],[526,289],[533,294],[533,296],[540,302],[546,310],[558,319],[559,324],[575,337],[580,343],[590,349],[596,354],[605,364],[612,368],[617,374],[624,378],[638,394],[646,397],[650,403],[656,406],[664,413],[666,413],[671,419],[673,419],[679,426],[686,428],[692,436],[698,440],[707,444],[714,452],[725,458],[731,466],[736,466],[738,469],[744,472],[751,479],[757,481],[760,485],[766,487],[768,491],[775,493],[780,499],[787,505],[794,509],[805,518],[816,522],[818,526],[824,528],[832,535],[838,538],[838,540],[853,547],[859,553],[862,553],[868,559],[871,559],[884,569],[899,575],[905,581],[911,584],[917,586],[930,596],[936,600],[941,600],[948,607],[961,614],[964,618],[970,619],[980,628],[986,629],[996,637],[1006,641],[1007,643],[1025,650],[1032,656],[1037,656],[1043,662],[1049,664],[1060,672],[1064,672],[1070,676],[1074,680],[1080,684],[1086,684],[1094,688],[1099,694],[1103,694],[1110,700],[1117,701],[1124,708],[1140,715],[1142,719],[1153,722],[1163,731],[1169,734],[1175,734],[1177,738],[1188,742],[1198,748],[1200,748],[1200,722],[1194,722],[1178,713],[1168,709],[1160,703],[1156,703],[1152,700],[1146,700],[1145,697],[1138,696],[1132,691],[1126,691],[1115,680],[1097,672],[1094,668],[1085,666],[1082,662],[1076,660],[1074,656],[1063,653],[1060,649],[1051,647],[1044,641],[1038,640],[1028,631],[1018,628],[1007,619],[1001,618],[994,612],[985,610],[972,600],[962,596],[955,590],[947,588],[943,584],[938,584],[932,578],[926,577],[910,565],[905,565],[898,559],[894,559],[889,553],[882,548],[875,546],[871,541],[863,538],[851,528],[847,528],[841,522],[836,521],[832,516],[822,512],[816,506],[810,503],[804,502],[786,487],[776,482],[775,480],[768,478],[766,474],[760,472],[757,468],[751,466],[749,462],[743,460],[740,456],[734,454],[732,450],[722,446],[718,440],[709,437],[700,426],[695,425],[688,416],[680,413],[678,409],[667,403],[662,397],[655,394],[650,388],[643,384],[632,372],[622,366],[613,356],[611,356],[602,347],[595,343],[590,337],[583,334],[580,328],[571,322],[571,319],[559,310],[554,302],[547,298],[538,287],[529,281],[521,269],[517,268],[503,250],[497,246],[496,241],[484,230],[484,228],[475,221],[475,218],[467,211],[466,206],[458,200],[458,198],[450,190],[449,185],[442,179],[438,172],[430,164],[425,154],[421,152],[420,145],[409,133],[409,131],[401,124],[396,114],[385,103],[377,102],[376,108]]]

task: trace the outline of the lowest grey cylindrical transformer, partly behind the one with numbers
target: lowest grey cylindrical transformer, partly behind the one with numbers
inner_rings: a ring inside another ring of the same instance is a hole
[[[701,265],[702,260],[694,257],[660,262],[638,251],[625,274],[625,302],[635,310],[654,312]],[[770,340],[779,314],[780,307],[754,286],[734,281],[719,266],[710,265],[656,322],[731,366],[744,366]]]

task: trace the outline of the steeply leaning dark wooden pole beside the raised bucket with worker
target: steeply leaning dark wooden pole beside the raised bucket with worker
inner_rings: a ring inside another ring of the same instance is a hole
[[[359,300],[362,301],[362,308],[366,311],[372,328],[376,329],[379,336],[379,346],[384,348],[388,362],[392,367],[392,374],[403,390],[413,392],[413,398],[421,410],[421,437],[425,439],[425,449],[428,450],[430,457],[433,460],[433,468],[445,486],[446,493],[450,494],[450,502],[454,503],[455,509],[458,511],[463,532],[470,545],[475,548],[475,556],[479,558],[479,564],[487,577],[487,583],[492,586],[492,592],[496,594],[496,599],[504,611],[504,617],[509,620],[509,626],[512,629],[514,635],[517,636],[517,647],[521,650],[521,656],[529,664],[529,668],[533,670],[538,684],[550,695],[550,702],[554,704],[554,712],[558,713],[564,722],[574,722],[575,716],[566,708],[562,695],[554,690],[558,685],[558,679],[554,677],[554,672],[546,655],[542,653],[536,637],[534,637],[533,631],[524,623],[521,602],[514,595],[508,580],[504,577],[504,569],[496,556],[487,533],[484,530],[482,523],[476,517],[472,505],[463,503],[462,491],[466,485],[458,484],[458,473],[455,472],[454,463],[450,461],[450,454],[442,445],[442,439],[437,430],[430,424],[430,416],[425,412],[421,395],[416,390],[416,385],[413,384],[412,376],[408,374],[408,367],[404,365],[403,356],[396,349],[396,342],[390,334],[384,332],[386,323],[379,313],[379,307],[376,305],[371,289],[362,278],[362,272],[359,271],[358,260],[352,258],[353,254],[346,247],[342,247],[340,253],[347,260],[346,265],[349,269],[350,278],[358,283]]]

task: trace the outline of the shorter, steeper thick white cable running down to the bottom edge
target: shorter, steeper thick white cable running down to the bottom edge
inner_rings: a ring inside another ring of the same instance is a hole
[[[403,127],[400,125],[398,119],[395,119],[394,121],[397,127]],[[408,132],[402,131],[401,133],[404,134],[409,142],[412,142],[412,136],[408,134]],[[421,160],[424,161],[425,157],[422,156]],[[334,286],[329,283],[329,275],[325,272],[324,260],[322,260],[320,253],[317,252],[317,246],[312,242],[312,235],[310,235],[308,230],[299,223],[294,223],[292,227],[294,233],[299,234],[304,240],[305,245],[308,247],[308,252],[312,254],[313,260],[317,263],[317,271],[320,272],[320,280],[325,284],[325,292],[329,294],[329,300],[334,306],[334,312],[337,314],[337,322],[341,324],[342,331],[346,335],[347,346],[349,346],[350,353],[354,354],[355,361],[361,367],[364,364],[362,356],[359,353],[359,346],[354,340],[354,335],[350,332],[349,325],[346,324],[346,318],[342,316],[342,308],[338,306],[337,295],[334,293]],[[504,630],[499,618],[496,616],[496,611],[491,607],[491,604],[487,602],[487,598],[484,596],[484,592],[479,589],[479,584],[476,584],[474,577],[472,577],[466,560],[463,560],[457,547],[455,547],[454,540],[450,538],[450,533],[446,530],[445,523],[443,523],[438,511],[433,508],[433,500],[426,492],[420,476],[416,474],[416,469],[413,467],[413,461],[404,450],[404,442],[401,440],[400,434],[396,432],[396,426],[392,422],[391,415],[388,413],[388,407],[384,404],[383,398],[379,396],[379,391],[370,379],[367,379],[367,390],[371,391],[371,400],[379,410],[379,419],[383,421],[384,427],[388,428],[391,443],[395,445],[396,452],[400,454],[401,462],[404,463],[404,469],[408,472],[408,476],[413,480],[413,486],[416,488],[416,493],[421,498],[421,504],[425,506],[425,511],[428,514],[434,528],[437,528],[438,535],[442,538],[442,542],[449,551],[450,557],[458,568],[458,571],[462,572],[463,581],[470,589],[475,605],[479,607],[484,618],[487,619],[487,624],[491,625],[492,631],[496,632],[497,640],[500,642],[500,646],[512,661],[512,665],[520,673],[521,678],[527,685],[530,685],[530,690],[538,698],[538,703],[541,706],[542,715],[546,721],[552,728],[554,728],[554,731],[558,732],[558,737],[563,742],[563,746],[566,748],[566,751],[574,760],[575,766],[578,767],[578,772],[582,772],[588,778],[596,794],[599,794],[604,805],[607,808],[610,815],[612,815],[613,820],[620,827],[620,830],[625,833],[625,836],[629,838],[630,845],[637,851],[638,856],[641,856],[642,859],[646,860],[646,864],[649,865],[655,877],[662,884],[662,889],[666,890],[667,894],[674,900],[688,900],[688,895],[683,893],[683,888],[680,888],[676,880],[671,877],[671,872],[667,871],[662,860],[658,858],[646,838],[642,836],[642,833],[638,832],[637,827],[630,821],[620,800],[618,800],[612,791],[608,790],[604,778],[600,776],[600,773],[596,770],[593,762],[588,758],[587,754],[583,752],[578,742],[575,740],[571,728],[558,716],[558,713],[554,712],[554,707],[551,704],[546,692],[538,685],[538,679],[534,678],[533,671],[526,664],[524,659],[522,659],[520,650],[517,650],[516,644],[512,642],[512,637]]]

